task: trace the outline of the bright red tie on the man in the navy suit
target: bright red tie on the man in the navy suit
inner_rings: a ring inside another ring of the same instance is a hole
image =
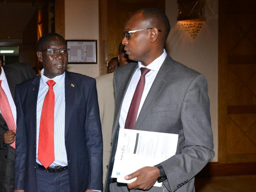
[[[54,161],[54,91],[53,80],[47,80],[49,86],[43,104],[38,139],[38,160],[47,168]]]

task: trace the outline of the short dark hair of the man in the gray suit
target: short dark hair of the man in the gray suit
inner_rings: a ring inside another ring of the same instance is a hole
[[[157,29],[162,31],[165,42],[170,31],[170,23],[166,14],[155,7],[141,8],[138,9],[134,14],[139,12],[142,12],[143,18],[150,22],[150,27],[157,27]]]

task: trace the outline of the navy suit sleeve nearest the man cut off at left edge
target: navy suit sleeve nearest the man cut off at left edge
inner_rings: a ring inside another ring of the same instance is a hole
[[[14,189],[24,189],[25,160],[26,160],[26,130],[24,113],[18,87],[15,88],[15,104],[17,111],[16,150],[14,167]]]

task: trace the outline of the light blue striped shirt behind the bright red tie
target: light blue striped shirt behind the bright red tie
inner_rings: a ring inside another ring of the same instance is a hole
[[[54,80],[56,83],[53,86],[54,91],[54,158],[55,160],[50,166],[66,166],[67,156],[65,147],[65,72],[54,78],[48,78],[43,75],[41,70],[41,78],[37,96],[36,106],[36,162],[38,160],[38,138],[40,128],[40,118],[44,97],[48,91],[47,80]]]

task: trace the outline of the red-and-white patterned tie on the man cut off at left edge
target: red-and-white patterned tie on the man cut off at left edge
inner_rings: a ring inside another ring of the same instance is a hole
[[[4,90],[2,89],[1,86],[2,80],[0,80],[0,110],[1,110],[1,114],[2,117],[4,118],[4,120],[6,121],[9,130],[13,130],[14,132],[16,132],[16,125],[11,113],[11,109],[10,109],[10,104],[8,101],[8,98],[4,92]],[[15,140],[14,142],[12,142],[10,144],[10,146],[12,146],[14,149],[15,147]]]

